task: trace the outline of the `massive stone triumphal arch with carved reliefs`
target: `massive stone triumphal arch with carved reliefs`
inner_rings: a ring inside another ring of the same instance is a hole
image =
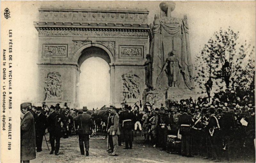
[[[111,104],[142,99],[150,30],[146,9],[42,7],[34,25],[39,36],[37,103],[79,108],[80,66],[90,57],[110,66]]]

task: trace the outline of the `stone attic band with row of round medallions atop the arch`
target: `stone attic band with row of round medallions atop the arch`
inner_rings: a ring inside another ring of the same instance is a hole
[[[39,9],[40,22],[148,24],[148,11],[140,9]]]

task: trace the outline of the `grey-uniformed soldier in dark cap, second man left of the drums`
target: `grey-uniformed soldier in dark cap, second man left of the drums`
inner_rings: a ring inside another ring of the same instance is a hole
[[[150,131],[151,132],[151,139],[152,139],[152,144],[153,147],[156,147],[156,143],[157,143],[157,128],[158,128],[158,112],[159,109],[156,108],[155,110],[153,110],[152,113],[152,117],[150,117],[149,122],[151,124],[151,128]]]

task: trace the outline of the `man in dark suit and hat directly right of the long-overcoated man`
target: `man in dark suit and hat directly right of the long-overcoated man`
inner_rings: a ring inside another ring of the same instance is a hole
[[[47,124],[47,118],[44,113],[42,113],[43,109],[41,106],[38,106],[36,108],[36,151],[41,152],[42,151],[42,143],[43,143],[43,137],[44,132],[46,129]]]

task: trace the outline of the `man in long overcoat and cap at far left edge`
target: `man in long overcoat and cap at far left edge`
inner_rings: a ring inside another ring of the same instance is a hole
[[[20,111],[24,114],[20,123],[20,160],[27,163],[36,158],[35,123],[28,103],[22,103]]]

